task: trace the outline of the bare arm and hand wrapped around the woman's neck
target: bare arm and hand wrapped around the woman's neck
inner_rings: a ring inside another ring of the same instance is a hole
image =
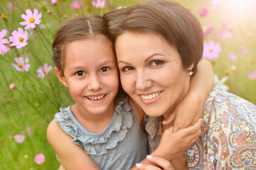
[[[213,67],[210,62],[203,59],[197,65],[196,74],[191,77],[187,96],[162,124],[167,125],[174,120],[173,132],[194,125],[201,118],[204,102],[213,87],[213,82]]]

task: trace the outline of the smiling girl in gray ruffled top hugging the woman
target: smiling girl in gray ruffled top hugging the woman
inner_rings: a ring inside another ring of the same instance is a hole
[[[75,101],[60,108],[47,131],[65,169],[130,169],[148,154],[142,109],[126,96],[116,97],[118,68],[106,28],[100,16],[71,18],[52,43],[55,73]],[[169,149],[178,157],[199,138],[200,126],[199,120],[179,132],[167,130],[152,154],[165,158],[161,153]]]

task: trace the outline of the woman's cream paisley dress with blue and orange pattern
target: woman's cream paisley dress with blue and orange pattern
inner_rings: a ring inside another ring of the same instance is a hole
[[[189,169],[256,169],[255,105],[213,86],[202,118],[203,135],[186,152]],[[154,150],[161,123],[159,118],[145,119],[150,149]]]

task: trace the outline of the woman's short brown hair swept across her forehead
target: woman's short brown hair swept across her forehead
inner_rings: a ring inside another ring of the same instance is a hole
[[[132,8],[121,8],[104,15],[113,42],[126,31],[161,35],[177,48],[184,69],[201,60],[204,34],[197,18],[184,6],[172,1],[148,1]]]

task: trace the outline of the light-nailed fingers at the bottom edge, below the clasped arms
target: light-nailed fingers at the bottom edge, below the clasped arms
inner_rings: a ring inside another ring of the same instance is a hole
[[[136,164],[136,167],[138,169],[144,169],[144,170],[160,170],[160,169],[164,169],[164,170],[174,170],[174,167],[172,166],[172,163],[167,161],[166,159],[163,159],[161,157],[157,157],[157,156],[152,156],[152,155],[148,155],[147,159],[154,163],[157,164],[157,166],[151,165],[151,164]]]

